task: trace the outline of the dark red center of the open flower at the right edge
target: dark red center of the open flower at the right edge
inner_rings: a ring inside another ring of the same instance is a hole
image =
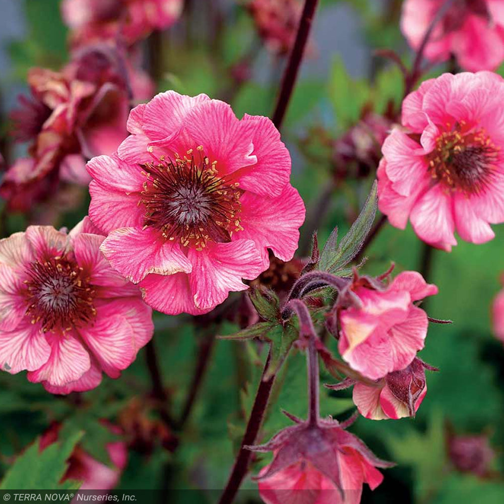
[[[439,135],[427,155],[433,178],[465,194],[484,192],[491,183],[499,148],[483,129],[464,133],[463,125]]]

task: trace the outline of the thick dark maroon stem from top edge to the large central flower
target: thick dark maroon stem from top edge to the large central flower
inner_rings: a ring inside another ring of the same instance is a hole
[[[277,105],[273,113],[273,123],[280,130],[289,104],[292,91],[296,84],[297,74],[303,58],[304,49],[310,33],[311,23],[319,0],[305,0],[301,20],[297,29],[294,47],[289,56],[287,67],[282,78],[282,86],[278,95]]]

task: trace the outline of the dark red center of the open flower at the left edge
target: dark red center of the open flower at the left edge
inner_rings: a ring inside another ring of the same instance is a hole
[[[28,269],[26,315],[44,332],[70,330],[87,324],[96,314],[94,290],[83,269],[67,257],[34,261]]]

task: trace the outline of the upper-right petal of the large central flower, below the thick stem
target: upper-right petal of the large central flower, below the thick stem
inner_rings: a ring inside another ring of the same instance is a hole
[[[291,161],[279,131],[271,119],[261,115],[245,114],[241,123],[250,127],[257,163],[243,168],[233,178],[246,191],[268,197],[280,196],[289,183]]]

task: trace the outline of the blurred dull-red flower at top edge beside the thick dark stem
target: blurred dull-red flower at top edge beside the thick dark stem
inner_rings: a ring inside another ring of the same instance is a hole
[[[286,54],[294,45],[303,10],[299,0],[251,0],[247,8],[272,52]]]

